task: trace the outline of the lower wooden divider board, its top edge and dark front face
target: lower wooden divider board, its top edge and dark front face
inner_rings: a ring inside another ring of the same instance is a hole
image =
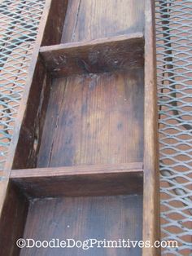
[[[142,163],[12,170],[28,196],[104,196],[142,193]]]

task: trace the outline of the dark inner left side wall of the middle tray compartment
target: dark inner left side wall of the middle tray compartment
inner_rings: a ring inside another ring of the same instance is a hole
[[[27,108],[20,129],[20,138],[15,150],[12,168],[33,168],[37,165],[37,154],[41,144],[42,128],[46,117],[46,106],[50,95],[50,76],[40,58],[34,71]]]

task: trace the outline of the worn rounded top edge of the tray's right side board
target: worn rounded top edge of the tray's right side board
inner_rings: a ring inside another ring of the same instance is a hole
[[[160,241],[155,2],[152,0],[145,1],[145,20],[143,241],[150,241],[152,245]],[[160,249],[143,248],[142,255],[160,255]]]

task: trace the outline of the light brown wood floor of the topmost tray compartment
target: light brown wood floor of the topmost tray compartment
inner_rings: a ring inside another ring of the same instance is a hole
[[[144,24],[143,0],[69,1],[61,42],[143,32]]]

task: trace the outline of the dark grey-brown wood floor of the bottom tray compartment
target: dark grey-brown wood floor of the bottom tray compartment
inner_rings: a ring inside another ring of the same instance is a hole
[[[142,196],[64,197],[31,202],[24,237],[142,240]],[[138,256],[142,249],[21,249],[20,255]]]

